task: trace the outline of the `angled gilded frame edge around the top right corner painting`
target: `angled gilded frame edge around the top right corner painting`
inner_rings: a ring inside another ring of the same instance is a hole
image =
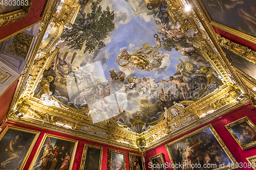
[[[243,38],[247,41],[250,41],[250,42],[256,44],[256,37],[254,37],[252,35],[249,35],[249,34],[246,34],[246,33],[243,33],[242,31],[230,28],[230,27],[225,26],[221,23],[218,23],[216,21],[211,20],[210,15],[208,14],[207,10],[205,9],[205,7],[202,3],[202,0],[197,0],[197,1],[193,0],[193,2],[194,2],[194,4],[196,4],[201,9],[201,11],[203,11],[204,15],[206,16],[206,18],[207,18],[207,20],[208,20],[208,22],[210,23],[211,26],[217,27],[217,28],[219,28],[223,31],[226,31],[230,34],[233,34],[235,36],[238,36],[240,38]]]

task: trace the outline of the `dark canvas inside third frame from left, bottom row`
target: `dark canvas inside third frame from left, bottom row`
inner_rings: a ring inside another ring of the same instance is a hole
[[[95,148],[87,148],[86,163],[83,169],[98,170],[100,162],[100,150]]]

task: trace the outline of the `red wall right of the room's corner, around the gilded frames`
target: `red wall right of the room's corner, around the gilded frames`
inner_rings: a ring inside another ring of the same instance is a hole
[[[251,107],[253,107],[251,105]],[[221,139],[224,141],[224,143],[226,144],[227,148],[229,149],[229,151],[232,153],[232,155],[234,156],[234,158],[237,160],[237,162],[246,162],[248,163],[248,161],[246,160],[246,158],[250,157],[250,156],[254,156],[256,155],[256,147],[248,149],[243,151],[240,146],[238,145],[238,143],[236,142],[236,140],[233,139],[233,137],[230,135],[230,133],[227,131],[227,129],[225,128],[225,125],[232,123],[234,120],[238,120],[244,116],[247,116],[254,124],[256,124],[256,108],[251,110],[250,107],[248,106],[248,104],[241,106],[240,108],[236,109],[236,110],[232,110],[231,112],[224,114],[223,116],[212,120],[210,122],[210,124],[215,128],[215,130],[217,131],[217,133],[219,134],[219,136],[221,137]],[[199,128],[205,126],[207,124],[204,124],[202,126],[200,126]],[[198,129],[198,128],[196,128]],[[194,129],[194,130],[196,130]],[[192,131],[194,131],[192,130]],[[190,131],[191,132],[191,131]],[[189,133],[189,132],[187,132]],[[187,134],[185,133],[185,134]],[[184,135],[184,134],[183,134]],[[181,137],[182,135],[180,135],[179,137]],[[177,137],[177,138],[179,138]],[[175,138],[175,139],[177,139]],[[175,140],[172,139],[172,140]],[[168,142],[172,141],[169,140]],[[165,145],[165,142],[161,145],[159,145],[158,147],[145,152],[144,157],[145,157],[145,166],[146,166],[146,170],[151,170],[151,168],[148,167],[148,163],[150,163],[149,158],[162,153],[163,157],[164,157],[164,161],[165,162],[170,162],[169,156],[167,154]],[[167,168],[167,170],[172,169],[172,168]],[[239,169],[252,169],[252,168],[239,168]]]

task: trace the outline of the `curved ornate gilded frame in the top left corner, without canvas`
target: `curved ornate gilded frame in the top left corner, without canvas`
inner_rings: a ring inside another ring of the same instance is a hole
[[[26,18],[30,11],[32,0],[28,0],[28,6],[23,6],[22,9],[11,11],[5,14],[0,14],[0,27],[8,25],[11,22],[15,22],[19,19]]]

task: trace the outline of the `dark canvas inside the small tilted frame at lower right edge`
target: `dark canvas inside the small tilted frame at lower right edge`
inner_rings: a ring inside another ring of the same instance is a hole
[[[256,132],[247,122],[242,122],[238,125],[232,126],[231,129],[243,144],[248,144],[256,140]]]

